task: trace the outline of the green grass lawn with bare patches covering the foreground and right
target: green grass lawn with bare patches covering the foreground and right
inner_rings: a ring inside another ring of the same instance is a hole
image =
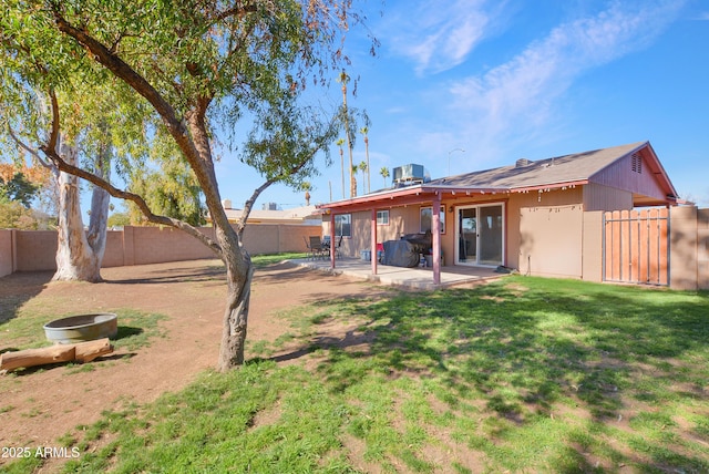
[[[239,370],[68,433],[84,454],[64,470],[709,472],[707,292],[517,276],[280,317],[296,363],[250,344]],[[356,329],[319,339],[335,321]]]

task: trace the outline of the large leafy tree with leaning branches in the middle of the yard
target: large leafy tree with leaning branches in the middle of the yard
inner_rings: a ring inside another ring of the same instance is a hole
[[[270,184],[297,186],[315,173],[316,153],[327,151],[335,136],[331,116],[304,106],[301,97],[306,86],[326,85],[347,62],[341,40],[354,19],[351,0],[1,0],[0,7],[10,25],[31,16],[38,41],[47,44],[56,33],[70,38],[82,47],[82,59],[103,68],[85,66],[80,60],[72,74],[107,71],[160,115],[204,192],[214,238],[154,214],[142,196],[68,163],[56,151],[58,127],[42,151],[62,172],[132,200],[148,221],[185,230],[224,261],[228,289],[218,369],[243,363],[254,271],[242,245],[244,225]],[[220,204],[214,136],[217,131],[235,131],[245,116],[254,118],[254,127],[240,159],[265,179],[245,203],[243,224],[235,229]]]

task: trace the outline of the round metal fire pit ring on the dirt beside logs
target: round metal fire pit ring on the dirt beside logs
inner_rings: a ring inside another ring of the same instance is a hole
[[[113,312],[71,316],[44,324],[47,339],[55,344],[72,344],[113,338],[117,332],[119,317]]]

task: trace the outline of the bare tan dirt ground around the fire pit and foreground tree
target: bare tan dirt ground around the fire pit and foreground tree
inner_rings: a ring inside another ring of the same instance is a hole
[[[102,270],[105,281],[95,285],[55,282],[50,281],[51,276],[31,272],[0,279],[0,302],[4,302],[0,309],[45,301],[63,308],[64,313],[117,308],[157,312],[167,317],[160,322],[166,337],[154,338],[150,347],[131,353],[117,350],[107,358],[113,363],[94,371],[72,372],[65,365],[53,365],[0,375],[0,446],[56,446],[59,436],[79,424],[97,421],[102,411],[129,402],[151,402],[164,392],[184,388],[198,372],[216,365],[226,295],[220,261],[107,268]],[[287,324],[274,316],[285,308],[388,291],[292,264],[257,269],[248,339],[273,341],[288,331]],[[4,312],[0,315],[0,351],[13,347],[2,328],[3,320],[12,315]],[[328,330],[332,331],[327,334],[331,338],[343,337],[343,328],[329,326]]]

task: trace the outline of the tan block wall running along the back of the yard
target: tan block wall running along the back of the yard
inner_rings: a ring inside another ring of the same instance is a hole
[[[201,228],[214,237],[214,228]],[[306,239],[321,235],[320,226],[251,224],[244,231],[244,246],[251,255],[306,253]],[[56,231],[1,230],[0,277],[16,271],[56,270]],[[167,261],[216,258],[206,246],[186,233],[166,227],[132,227],[109,230],[103,268]]]

